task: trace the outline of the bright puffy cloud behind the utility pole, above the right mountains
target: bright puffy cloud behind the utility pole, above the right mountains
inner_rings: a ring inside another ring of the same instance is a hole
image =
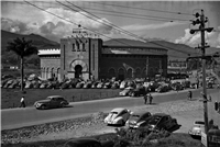
[[[175,43],[177,44],[186,44],[189,46],[197,46],[198,44],[201,44],[201,34],[200,32],[196,32],[195,34],[189,33],[189,29],[185,30],[185,35],[180,36],[179,38],[175,39]],[[219,38],[216,37],[217,33],[216,32],[205,32],[205,41],[206,43],[209,43],[211,46],[217,46]],[[220,43],[220,42],[219,42]]]

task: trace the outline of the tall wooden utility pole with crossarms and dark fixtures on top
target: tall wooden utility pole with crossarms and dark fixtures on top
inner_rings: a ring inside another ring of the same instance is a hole
[[[202,59],[202,97],[204,97],[204,120],[205,120],[205,133],[207,134],[207,146],[209,146],[209,140],[208,140],[208,106],[207,106],[207,83],[206,83],[206,48],[209,46],[206,46],[206,41],[205,41],[205,32],[211,32],[213,27],[207,27],[206,29],[206,22],[208,22],[208,18],[205,18],[204,10],[201,10],[200,13],[195,14],[197,19],[196,21],[193,21],[193,24],[200,24],[199,29],[197,30],[190,30],[190,34],[194,34],[195,32],[200,31],[201,33],[201,46],[199,47],[201,49],[201,57],[196,57],[196,58],[201,58]],[[191,57],[193,58],[193,57]]]

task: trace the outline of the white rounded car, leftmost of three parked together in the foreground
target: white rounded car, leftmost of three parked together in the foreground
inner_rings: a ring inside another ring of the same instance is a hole
[[[113,109],[105,118],[108,125],[124,125],[130,117],[131,111],[123,108]]]

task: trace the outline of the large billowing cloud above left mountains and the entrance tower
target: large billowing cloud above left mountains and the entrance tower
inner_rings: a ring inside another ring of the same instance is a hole
[[[63,8],[48,8],[46,11],[62,19],[42,11],[38,11],[38,14],[42,15],[43,19],[34,18],[30,14],[29,22],[26,18],[25,20],[21,18],[19,21],[1,18],[1,30],[20,34],[35,33],[57,42],[64,36],[72,35],[73,29],[78,29],[78,24],[80,24],[82,29],[88,29],[91,32],[99,32],[101,34],[111,34],[114,31],[111,25],[108,26],[103,24],[105,22],[110,23],[107,19],[92,18],[94,20],[91,20],[86,16],[88,15],[86,12],[73,12]]]

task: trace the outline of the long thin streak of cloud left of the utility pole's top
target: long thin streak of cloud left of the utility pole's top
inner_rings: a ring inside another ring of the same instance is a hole
[[[143,30],[158,30],[158,29],[164,29],[164,27],[169,27],[169,26],[175,26],[175,25],[180,25],[185,24],[184,22],[165,22],[165,23],[157,23],[157,24],[132,24],[132,25],[127,25],[123,26],[124,30],[127,31],[143,31]]]

